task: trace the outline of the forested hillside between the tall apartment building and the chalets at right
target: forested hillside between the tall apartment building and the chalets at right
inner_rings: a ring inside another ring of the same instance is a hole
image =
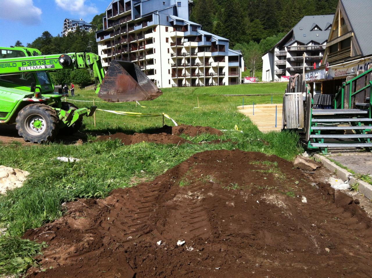
[[[194,0],[190,20],[230,40],[248,72],[262,70],[262,55],[306,15],[335,13],[338,0]],[[247,73],[248,75],[250,73]]]

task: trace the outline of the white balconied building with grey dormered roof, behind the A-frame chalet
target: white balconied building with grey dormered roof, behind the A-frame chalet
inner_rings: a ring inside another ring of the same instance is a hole
[[[262,81],[286,81],[289,76],[318,67],[334,15],[304,16],[263,57]]]

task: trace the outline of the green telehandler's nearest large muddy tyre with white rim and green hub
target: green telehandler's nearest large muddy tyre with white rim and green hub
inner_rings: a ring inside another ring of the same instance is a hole
[[[37,103],[24,107],[16,119],[18,134],[26,142],[47,143],[58,133],[59,118],[50,106]]]

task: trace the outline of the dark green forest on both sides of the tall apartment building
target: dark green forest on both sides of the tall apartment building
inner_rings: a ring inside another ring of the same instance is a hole
[[[243,53],[248,75],[262,70],[262,55],[269,51],[305,15],[334,13],[338,0],[193,0],[190,20],[202,29],[230,40],[230,48]],[[45,31],[27,44],[43,54],[89,51],[98,54],[95,32],[102,29],[102,16],[94,16],[91,32],[77,30],[65,37]],[[21,41],[15,43],[22,46]],[[251,71],[251,73],[249,73]],[[70,73],[59,82],[70,82]]]

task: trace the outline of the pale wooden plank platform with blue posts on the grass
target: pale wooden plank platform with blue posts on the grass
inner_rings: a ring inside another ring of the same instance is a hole
[[[277,119],[275,127],[275,106],[277,107]],[[282,103],[255,104],[254,115],[253,105],[238,106],[241,113],[248,116],[253,124],[257,125],[262,132],[280,131],[282,129]]]

